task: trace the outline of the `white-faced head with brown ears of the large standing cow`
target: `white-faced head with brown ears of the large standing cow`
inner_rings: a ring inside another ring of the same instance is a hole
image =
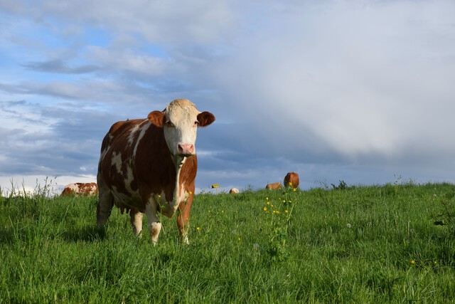
[[[199,112],[189,100],[176,99],[163,112],[151,112],[149,120],[164,128],[164,138],[173,155],[190,156],[196,154],[198,127],[210,125],[215,116],[210,112]]]

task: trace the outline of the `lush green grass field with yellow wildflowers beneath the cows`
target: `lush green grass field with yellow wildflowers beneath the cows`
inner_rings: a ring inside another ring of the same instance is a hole
[[[189,246],[96,229],[96,197],[0,200],[0,303],[455,302],[452,184],[198,194]]]

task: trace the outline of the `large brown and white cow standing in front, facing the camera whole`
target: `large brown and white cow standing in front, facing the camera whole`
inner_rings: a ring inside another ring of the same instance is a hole
[[[215,120],[210,112],[199,112],[186,99],[173,100],[162,112],[148,118],[116,122],[102,141],[98,165],[100,202],[97,224],[104,226],[112,206],[131,209],[133,230],[142,230],[145,213],[153,243],[161,222],[158,213],[172,217],[183,243],[188,226],[198,169],[196,132]]]

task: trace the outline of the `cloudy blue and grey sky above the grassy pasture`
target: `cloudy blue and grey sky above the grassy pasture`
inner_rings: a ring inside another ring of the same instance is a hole
[[[198,192],[453,183],[455,1],[0,1],[2,192],[95,182],[176,98],[216,117]]]

